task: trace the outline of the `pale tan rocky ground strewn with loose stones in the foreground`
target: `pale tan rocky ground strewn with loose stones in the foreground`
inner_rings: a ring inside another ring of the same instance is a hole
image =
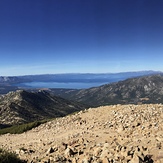
[[[0,147],[29,163],[163,163],[163,105],[112,105],[57,118]]]

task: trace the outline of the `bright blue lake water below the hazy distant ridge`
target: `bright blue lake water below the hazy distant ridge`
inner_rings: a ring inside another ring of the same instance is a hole
[[[29,82],[29,83],[21,83],[19,87],[26,87],[26,88],[67,88],[67,89],[84,89],[90,87],[97,87],[106,83],[101,82],[91,82],[91,83],[80,83],[80,82]]]

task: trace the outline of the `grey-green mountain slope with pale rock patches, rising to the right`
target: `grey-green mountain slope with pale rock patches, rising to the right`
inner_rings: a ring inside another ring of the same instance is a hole
[[[90,89],[51,89],[61,97],[89,106],[163,102],[163,75],[130,78]]]

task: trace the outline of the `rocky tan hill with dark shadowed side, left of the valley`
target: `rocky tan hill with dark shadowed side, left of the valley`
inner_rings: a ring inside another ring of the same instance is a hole
[[[85,109],[83,105],[53,96],[45,91],[18,90],[0,97],[0,124],[21,124],[65,116]]]

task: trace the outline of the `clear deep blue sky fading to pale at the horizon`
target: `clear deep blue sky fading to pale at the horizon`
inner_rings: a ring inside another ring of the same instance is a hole
[[[163,0],[1,0],[0,76],[163,71]]]

